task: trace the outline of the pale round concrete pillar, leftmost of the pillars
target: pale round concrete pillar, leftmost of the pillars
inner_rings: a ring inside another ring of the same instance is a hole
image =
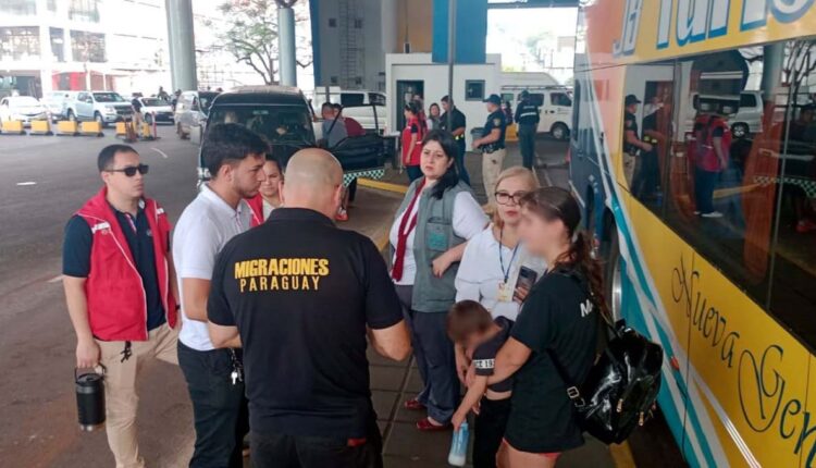
[[[198,89],[191,0],[164,0],[172,89]]]

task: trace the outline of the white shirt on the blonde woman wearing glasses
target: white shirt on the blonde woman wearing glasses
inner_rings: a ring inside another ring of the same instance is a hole
[[[502,261],[499,261],[499,255]],[[546,270],[546,261],[532,256],[523,245],[519,245],[515,258],[511,248],[504,245],[499,248],[498,241],[493,235],[493,225],[490,225],[471,238],[465,248],[459,271],[456,274],[456,300],[479,301],[494,319],[507,317],[515,321],[521,305],[516,301],[498,300],[498,284],[505,280],[502,262],[504,262],[505,271],[508,272],[507,284],[510,287],[516,285],[521,267],[533,270],[537,273],[537,278],[541,278]]]

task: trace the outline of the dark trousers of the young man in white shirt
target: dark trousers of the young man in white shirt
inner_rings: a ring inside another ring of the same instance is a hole
[[[242,468],[249,411],[244,383],[233,385],[228,349],[199,352],[178,342],[178,366],[193,401],[196,445],[190,468]]]

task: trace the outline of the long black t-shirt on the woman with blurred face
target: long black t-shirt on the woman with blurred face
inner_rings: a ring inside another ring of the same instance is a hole
[[[597,315],[577,271],[548,272],[531,288],[511,332],[532,352],[514,374],[505,438],[515,448],[562,452],[583,444],[559,369],[570,384],[586,379],[595,359]]]

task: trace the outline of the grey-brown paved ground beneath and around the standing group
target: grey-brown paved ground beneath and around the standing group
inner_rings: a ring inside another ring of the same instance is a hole
[[[71,377],[75,337],[60,284],[62,231],[70,215],[99,187],[96,155],[118,141],[110,130],[96,137],[0,137],[0,466],[85,468],[113,466],[103,432],[81,433]],[[169,126],[161,139],[134,146],[150,164],[147,189],[177,220],[195,197],[197,148],[178,140]],[[540,141],[542,168],[553,183],[566,185],[566,146]],[[516,163],[517,156],[506,165]],[[514,159],[516,158],[516,159]],[[479,180],[479,159],[468,165]],[[398,182],[400,175],[390,174]],[[404,175],[401,175],[404,177]],[[477,194],[483,197],[480,184]],[[382,243],[400,194],[361,187],[351,219],[342,224]],[[9,222],[9,220],[13,220]],[[401,402],[419,387],[409,361],[371,357],[374,405],[385,434],[386,467],[446,466],[449,433],[413,429],[419,415],[406,414]],[[138,431],[150,467],[183,467],[194,440],[191,408],[176,367],[151,364],[139,384]],[[641,431],[643,433],[652,432]],[[676,451],[676,448],[675,448]],[[634,449],[636,454],[636,449]],[[664,457],[665,458],[665,457]],[[675,458],[673,456],[668,457]],[[660,457],[641,466],[667,468]],[[640,461],[640,460],[639,460]],[[590,443],[565,456],[561,466],[611,466],[604,445]]]

